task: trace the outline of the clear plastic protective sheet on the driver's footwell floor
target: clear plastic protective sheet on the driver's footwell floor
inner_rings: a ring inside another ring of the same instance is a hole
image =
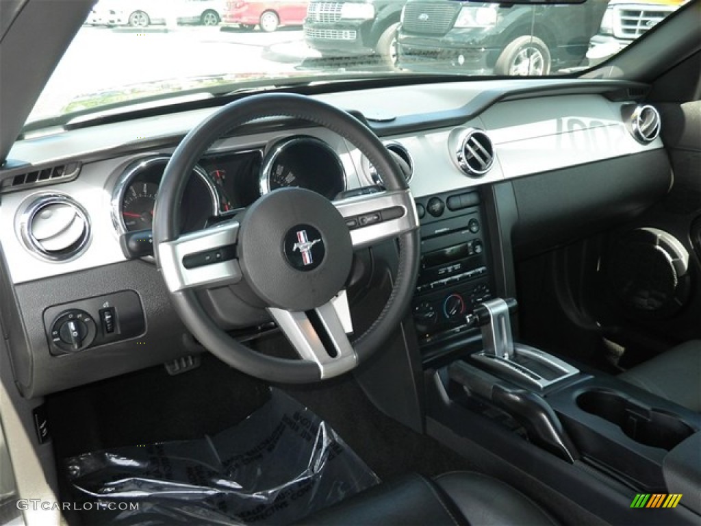
[[[379,483],[333,429],[285,393],[214,436],[66,460],[87,524],[283,525]]]

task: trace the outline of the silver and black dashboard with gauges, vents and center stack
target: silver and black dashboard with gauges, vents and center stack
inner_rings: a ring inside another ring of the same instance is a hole
[[[543,79],[318,95],[352,109],[403,163],[421,218],[423,259],[412,308],[426,352],[459,335],[476,302],[509,292],[519,245],[557,243],[667,191],[671,170],[659,116],[637,104],[637,88]],[[165,342],[175,313],[153,262],[133,260],[121,240],[149,231],[172,151],[212,111],[15,144],[11,158],[20,162],[0,170],[0,224],[13,225],[0,231],[0,242],[27,331],[25,344],[13,345],[25,392],[66,389],[168,357],[163,345],[150,355],[135,346]],[[333,200],[381,191],[381,183],[365,156],[333,131],[260,119],[222,137],[198,161],[182,199],[181,230],[231,217],[281,187]],[[597,207],[600,213],[592,213]],[[61,343],[56,325],[71,311],[95,323],[93,340],[80,352]],[[120,312],[128,316],[118,316],[108,332],[105,316]],[[247,319],[266,323],[254,314]],[[122,328],[124,337],[117,337]]]

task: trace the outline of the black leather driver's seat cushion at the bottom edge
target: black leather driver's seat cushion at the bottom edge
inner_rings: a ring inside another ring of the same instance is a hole
[[[524,494],[494,478],[454,472],[433,480],[411,474],[383,483],[300,522],[329,526],[555,525]]]

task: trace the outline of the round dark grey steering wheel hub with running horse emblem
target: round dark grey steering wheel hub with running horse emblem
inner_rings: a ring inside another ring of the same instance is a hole
[[[360,217],[355,219],[360,223]],[[324,196],[302,188],[277,189],[243,216],[238,258],[243,278],[266,305],[311,311],[345,285],[353,264],[351,231]]]

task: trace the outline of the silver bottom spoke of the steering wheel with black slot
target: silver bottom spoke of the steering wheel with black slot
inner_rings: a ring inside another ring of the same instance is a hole
[[[346,291],[313,311],[293,312],[270,308],[300,358],[319,367],[320,378],[343,374],[358,365],[358,356],[348,340],[353,331]]]

